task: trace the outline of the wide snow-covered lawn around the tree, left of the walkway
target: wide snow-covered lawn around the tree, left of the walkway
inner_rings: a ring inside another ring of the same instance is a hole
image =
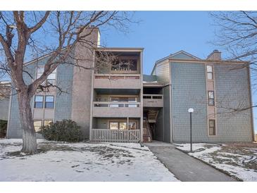
[[[23,155],[21,139],[0,139],[0,181],[178,181],[140,144],[37,142]]]

